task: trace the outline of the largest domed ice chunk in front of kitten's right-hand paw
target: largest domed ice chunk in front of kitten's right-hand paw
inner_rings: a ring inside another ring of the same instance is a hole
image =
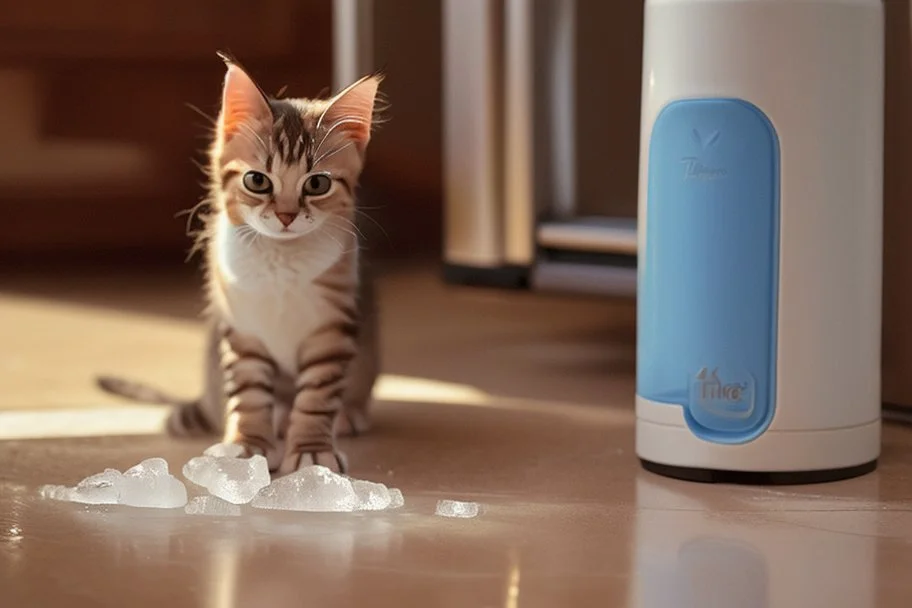
[[[273,481],[250,504],[285,511],[354,511],[360,502],[351,481],[313,465]]]

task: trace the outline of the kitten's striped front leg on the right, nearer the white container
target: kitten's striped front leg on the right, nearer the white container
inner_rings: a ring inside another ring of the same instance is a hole
[[[342,408],[345,372],[354,355],[354,332],[348,322],[325,326],[302,346],[280,473],[313,464],[340,473],[347,469],[344,455],[336,449],[333,423]]]

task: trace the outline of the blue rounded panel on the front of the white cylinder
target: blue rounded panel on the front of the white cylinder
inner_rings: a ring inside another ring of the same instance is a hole
[[[637,393],[684,408],[707,441],[744,443],[776,398],[779,140],[756,106],[666,106],[649,149]]]

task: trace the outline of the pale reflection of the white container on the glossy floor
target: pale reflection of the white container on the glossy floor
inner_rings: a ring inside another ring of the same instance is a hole
[[[880,605],[881,509],[870,501],[816,496],[809,510],[800,488],[728,488],[708,504],[712,491],[648,475],[636,488],[633,607]]]

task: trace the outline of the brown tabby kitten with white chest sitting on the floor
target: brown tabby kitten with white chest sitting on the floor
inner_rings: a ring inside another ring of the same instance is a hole
[[[278,474],[312,464],[344,472],[335,437],[366,430],[377,375],[355,187],[381,78],[329,99],[274,99],[223,59],[211,209],[197,244],[211,321],[204,394],[181,402],[123,380],[99,383],[174,405],[172,435],[222,433]]]

